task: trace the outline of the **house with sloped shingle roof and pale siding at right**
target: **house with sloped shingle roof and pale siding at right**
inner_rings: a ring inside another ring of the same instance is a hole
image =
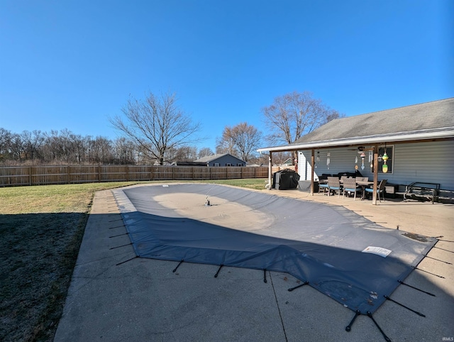
[[[454,191],[454,98],[338,118],[290,145],[258,151],[270,158],[298,151],[300,180],[358,170],[375,183],[431,182]]]

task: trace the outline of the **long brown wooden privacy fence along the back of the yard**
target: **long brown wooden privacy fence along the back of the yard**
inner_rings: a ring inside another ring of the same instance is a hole
[[[0,187],[147,180],[267,178],[268,167],[65,165],[0,167]]]

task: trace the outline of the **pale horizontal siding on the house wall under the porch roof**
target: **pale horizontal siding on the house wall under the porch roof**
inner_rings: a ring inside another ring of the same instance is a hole
[[[395,144],[393,156],[393,171],[391,173],[378,174],[378,180],[386,179],[393,184],[407,185],[411,182],[431,182],[441,184],[441,189],[454,191],[454,141],[436,141],[428,143],[402,143]],[[331,162],[329,170],[326,167],[326,153],[320,151],[320,162],[315,169],[316,179],[322,173],[336,174],[338,172],[355,172],[354,150],[348,148],[331,149]],[[302,152],[307,161],[311,160],[311,151]],[[300,160],[303,159],[302,156]],[[358,155],[358,166],[361,160]],[[368,165],[368,153],[366,152],[365,169],[358,169],[364,177],[372,180],[373,174]],[[300,165],[299,174],[305,175],[306,180],[311,179],[310,169]]]

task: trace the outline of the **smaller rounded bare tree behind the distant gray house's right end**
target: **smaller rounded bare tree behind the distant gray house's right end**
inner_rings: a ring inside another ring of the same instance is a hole
[[[257,128],[242,122],[236,126],[224,128],[216,150],[231,153],[248,162],[255,157],[255,150],[259,147],[261,139],[262,133]],[[225,146],[226,150],[222,150],[222,146]]]

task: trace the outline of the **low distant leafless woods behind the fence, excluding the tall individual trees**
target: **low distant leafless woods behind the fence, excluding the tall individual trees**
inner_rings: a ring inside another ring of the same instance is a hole
[[[195,146],[180,146],[168,150],[166,159],[192,161],[211,154],[209,148],[197,150]],[[68,129],[13,133],[0,128],[2,165],[146,165],[154,162],[146,150],[125,137],[111,140],[103,136],[82,136]]]

